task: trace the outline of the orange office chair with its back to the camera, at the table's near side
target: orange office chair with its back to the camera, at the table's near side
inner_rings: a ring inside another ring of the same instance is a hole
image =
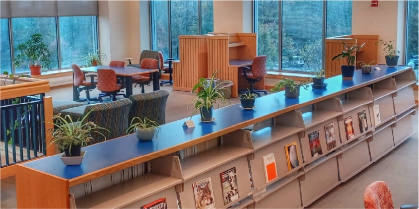
[[[115,71],[113,69],[98,69],[98,90],[104,92],[99,98],[111,96],[112,101],[116,101],[118,92],[121,90],[121,85],[117,83]]]

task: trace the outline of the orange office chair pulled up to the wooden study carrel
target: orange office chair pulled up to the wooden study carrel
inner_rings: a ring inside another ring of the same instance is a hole
[[[266,90],[255,90],[254,84],[263,79],[266,75],[266,55],[256,56],[253,59],[252,66],[242,67],[243,72],[241,75],[250,83],[249,92],[257,94],[260,97],[260,92],[263,92],[265,95],[268,94]]]

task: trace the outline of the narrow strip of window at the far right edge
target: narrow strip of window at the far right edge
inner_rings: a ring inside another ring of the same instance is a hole
[[[417,70],[418,59],[418,36],[417,36],[417,1],[407,1],[407,24],[406,24],[406,64],[414,64],[414,69]],[[417,75],[417,74],[416,74]]]

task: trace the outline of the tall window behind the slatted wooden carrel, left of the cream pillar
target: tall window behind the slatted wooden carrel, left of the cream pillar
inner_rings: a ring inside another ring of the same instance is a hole
[[[179,59],[179,35],[213,31],[213,1],[151,1],[151,19],[152,49]]]

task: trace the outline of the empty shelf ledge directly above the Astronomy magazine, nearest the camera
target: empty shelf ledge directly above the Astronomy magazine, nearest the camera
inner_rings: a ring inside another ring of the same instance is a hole
[[[167,188],[182,179],[147,173],[76,199],[78,208],[121,208]]]

